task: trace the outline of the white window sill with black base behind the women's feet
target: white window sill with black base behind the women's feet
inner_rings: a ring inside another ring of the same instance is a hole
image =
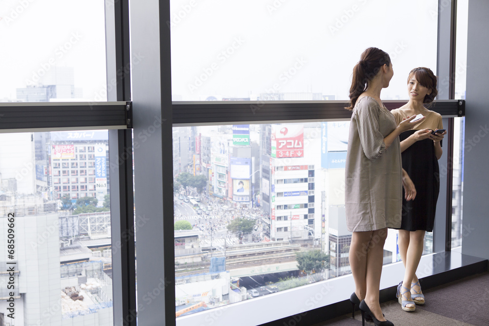
[[[422,288],[427,289],[487,270],[487,260],[458,252],[442,252],[423,256],[417,273]],[[403,275],[404,266],[401,261],[383,267],[380,279],[381,302],[395,297],[397,284]],[[177,326],[289,325],[289,321],[298,322],[299,319],[308,324],[319,323],[350,312],[349,299],[354,290],[352,275],[344,275],[179,317]],[[245,318],[236,318],[244,315]]]

